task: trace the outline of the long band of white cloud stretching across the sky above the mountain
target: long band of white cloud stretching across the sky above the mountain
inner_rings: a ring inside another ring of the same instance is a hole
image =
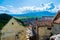
[[[26,11],[49,11],[49,12],[57,12],[60,10],[60,5],[54,5],[54,3],[48,3],[48,4],[41,4],[42,7],[37,6],[23,6],[23,7],[17,7],[14,6],[0,6],[0,13],[14,13],[14,14],[23,14]]]

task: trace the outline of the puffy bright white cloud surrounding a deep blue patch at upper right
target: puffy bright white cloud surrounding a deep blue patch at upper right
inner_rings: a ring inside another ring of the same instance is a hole
[[[58,10],[60,10],[60,4],[59,5],[55,5],[54,3],[48,3],[48,4],[45,4],[43,5],[44,6],[44,9],[46,11],[49,11],[49,12],[58,12]]]

